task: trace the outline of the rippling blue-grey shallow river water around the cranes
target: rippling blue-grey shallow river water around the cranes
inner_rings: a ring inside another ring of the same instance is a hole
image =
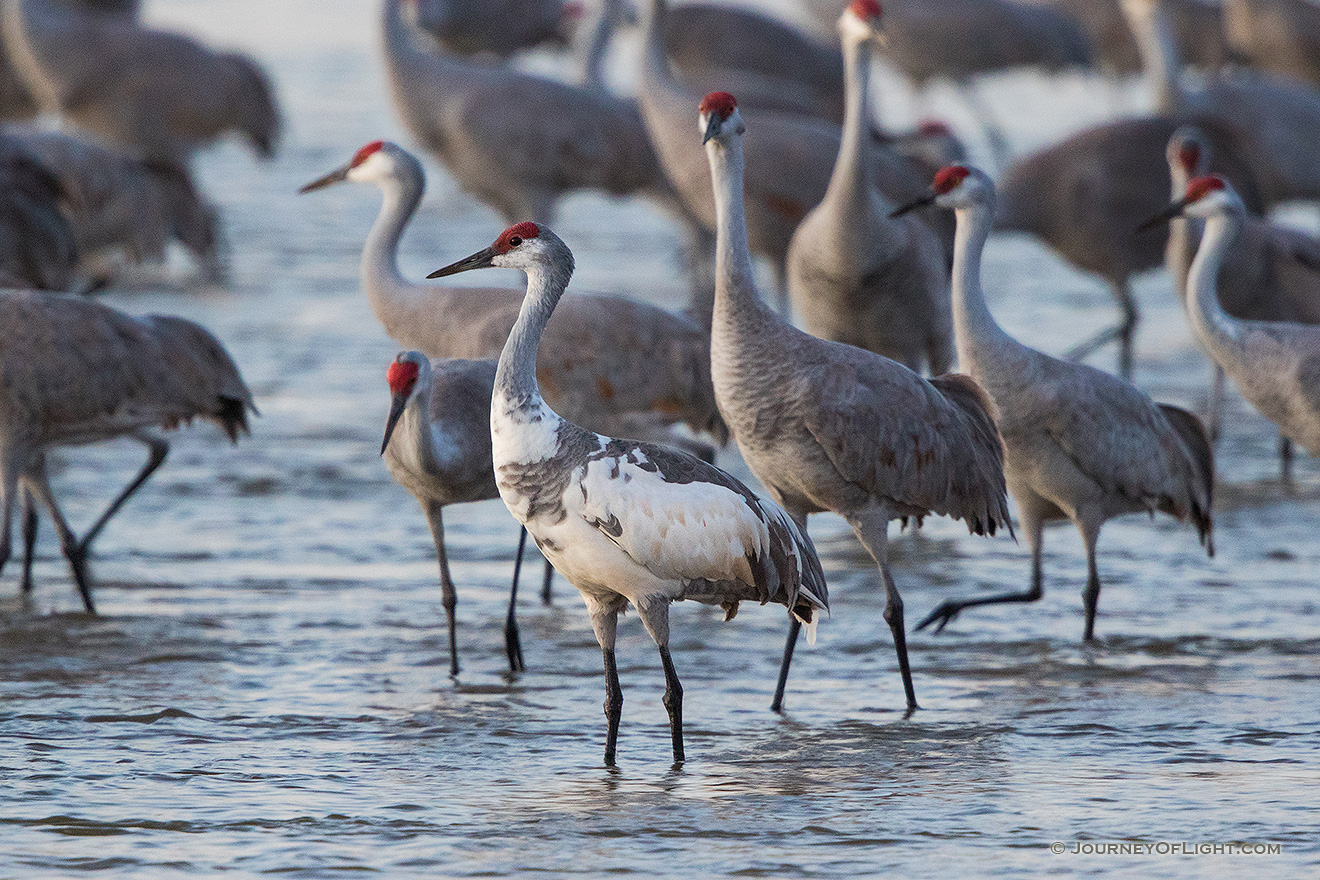
[[[828,516],[813,533],[834,611],[799,650],[787,715],[767,710],[781,610],[746,607],[723,624],[718,610],[675,608],[681,768],[635,616],[619,640],[618,769],[601,764],[599,650],[562,581],[552,607],[527,591],[529,670],[506,674],[516,536],[499,501],[449,515],[463,661],[451,679],[425,521],[376,455],[396,346],[358,292],[356,261],[378,194],[294,195],[368,140],[408,142],[380,77],[375,4],[148,5],[156,21],[256,53],[279,83],[288,137],[269,165],[234,145],[201,162],[228,222],[227,286],[145,281],[106,299],[206,323],[263,416],[235,447],[211,427],[177,435],[96,545],[100,616],[81,613],[49,529],[29,603],[16,566],[5,573],[0,876],[1320,871],[1320,470],[1302,458],[1286,495],[1272,431],[1238,398],[1220,449],[1214,559],[1166,517],[1111,522],[1100,641],[1082,646],[1081,544],[1048,532],[1041,602],[909,637],[924,707],[911,720],[878,577]],[[1113,102],[1080,78],[1008,77],[990,95],[1019,148]],[[965,123],[949,94],[932,102]],[[898,90],[883,103],[911,112]],[[502,226],[428,170],[405,244],[413,277]],[[576,197],[557,231],[577,252],[576,286],[682,302],[676,235],[645,206]],[[1114,317],[1097,282],[1023,240],[991,243],[986,285],[1003,323],[1047,351]],[[1138,293],[1139,383],[1200,409],[1209,371],[1167,281],[1152,276]],[[1111,367],[1111,355],[1097,363]],[[75,522],[139,454],[125,443],[59,456],[57,492]],[[746,475],[737,453],[721,462]],[[898,538],[894,555],[909,623],[950,596],[1023,586],[1028,571],[1007,537],[972,538],[948,521]],[[1118,842],[1154,851],[1106,850]],[[1197,848],[1238,842],[1274,848]]]

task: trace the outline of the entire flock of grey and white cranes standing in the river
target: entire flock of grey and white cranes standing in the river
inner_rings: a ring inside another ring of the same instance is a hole
[[[977,606],[1040,599],[1043,526],[1071,521],[1086,553],[1089,641],[1107,520],[1167,513],[1213,554],[1225,376],[1278,426],[1286,478],[1292,443],[1320,454],[1320,240],[1263,218],[1320,197],[1311,156],[1320,92],[1307,49],[1320,40],[1320,7],[803,0],[804,13],[837,29],[838,42],[822,42],[730,4],[380,3],[404,127],[511,223],[429,278],[488,267],[527,276],[525,292],[403,276],[397,251],[425,181],[395,142],[367,144],[302,187],[381,193],[362,289],[405,351],[385,373],[380,453],[430,525],[453,674],[447,505],[499,496],[524,529],[519,562],[527,534],[546,559],[543,596],[553,571],[582,592],[606,673],[607,764],[623,705],[616,620],[630,606],[659,648],[676,761],[682,685],[671,603],[721,606],[726,619],[746,600],[784,606],[774,698],[783,707],[800,628],[814,640],[829,611],[812,513],[841,516],[875,562],[911,715],[919,676],[888,557],[892,520],[949,516],[994,536],[1014,532],[1015,501],[1028,587],[949,599],[916,624],[936,632]],[[191,158],[226,133],[269,156],[280,135],[255,62],[147,28],[137,5],[0,4],[0,115],[24,120],[0,132],[0,280],[13,288],[0,292],[0,566],[20,519],[20,588],[32,588],[40,503],[88,612],[90,544],[166,456],[153,429],[201,418],[236,441],[256,406],[201,326],[70,292],[114,282],[125,260],[161,263],[172,243],[219,277],[220,222],[193,183]],[[605,65],[630,20],[642,40],[635,100],[611,91]],[[579,83],[507,61],[574,41]],[[913,86],[958,84],[1005,162],[1011,145],[977,95],[983,74],[1142,70],[1156,107],[1011,161],[997,186],[966,164],[948,127],[895,132],[875,119],[876,55]],[[1204,74],[1195,87],[1184,58]],[[62,128],[33,125],[38,115]],[[574,259],[552,224],[577,190],[649,198],[681,226],[692,269],[684,313],[564,296]],[[997,230],[1035,235],[1107,280],[1122,321],[1071,359],[1014,339],[981,284]],[[776,286],[766,296],[758,259]],[[1214,364],[1209,429],[1131,381],[1130,280],[1162,264]],[[1110,340],[1121,376],[1077,363]],[[115,437],[143,443],[148,460],[79,537],[46,453]],[[730,439],[768,497],[713,463]],[[516,571],[506,623],[515,672],[524,668]]]

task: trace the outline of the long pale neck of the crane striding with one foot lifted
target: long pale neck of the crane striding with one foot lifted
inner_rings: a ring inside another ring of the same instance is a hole
[[[995,322],[981,288],[981,257],[994,226],[994,198],[960,207],[956,212],[957,232],[953,237],[953,332],[961,369],[977,372],[986,351],[1007,352],[1020,348]]]

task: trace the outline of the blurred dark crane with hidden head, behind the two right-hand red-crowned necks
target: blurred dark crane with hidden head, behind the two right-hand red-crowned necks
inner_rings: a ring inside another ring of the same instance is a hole
[[[1133,375],[1137,301],[1131,277],[1163,265],[1167,237],[1131,230],[1158,211],[1168,169],[1160,161],[1183,123],[1199,125],[1214,144],[1214,166],[1242,181],[1253,211],[1266,201],[1255,185],[1251,142],[1236,127],[1206,116],[1122,119],[1088,128],[1012,165],[1001,181],[995,228],[1039,237],[1074,267],[1109,282],[1122,321],[1073,347],[1076,360],[1117,340],[1118,372]]]

